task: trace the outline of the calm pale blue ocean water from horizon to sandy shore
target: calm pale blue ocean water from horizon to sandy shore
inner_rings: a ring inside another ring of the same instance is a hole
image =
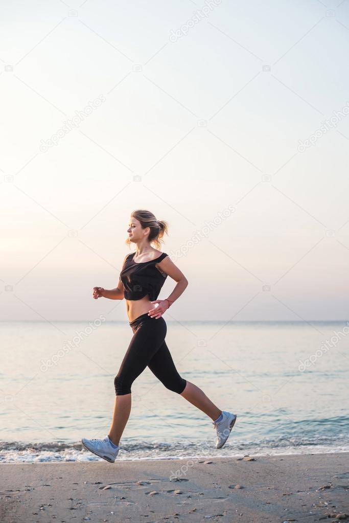
[[[349,322],[172,322],[181,376],[237,414],[223,449],[212,420],[146,368],[118,460],[349,450]],[[1,322],[0,461],[95,461],[108,434],[128,322]]]

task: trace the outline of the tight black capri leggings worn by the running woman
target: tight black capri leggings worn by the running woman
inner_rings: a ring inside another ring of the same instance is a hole
[[[131,394],[132,383],[147,366],[167,389],[183,392],[187,380],[180,377],[165,343],[164,318],[152,318],[146,312],[130,322],[130,326],[133,337],[114,379],[115,394]]]

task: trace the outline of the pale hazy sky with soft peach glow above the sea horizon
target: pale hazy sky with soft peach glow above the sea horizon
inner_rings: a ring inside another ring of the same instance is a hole
[[[92,288],[135,209],[189,281],[169,321],[348,319],[349,2],[0,11],[2,320],[127,321]]]

